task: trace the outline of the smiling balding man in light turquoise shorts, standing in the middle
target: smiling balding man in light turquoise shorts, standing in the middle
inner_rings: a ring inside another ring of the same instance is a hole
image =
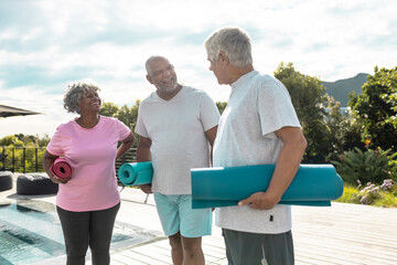
[[[137,161],[152,161],[151,186],[159,218],[169,236],[173,264],[204,265],[202,236],[212,231],[212,211],[192,210],[192,168],[210,167],[219,112],[211,97],[178,84],[174,67],[162,56],[146,63],[157,88],[139,106]]]

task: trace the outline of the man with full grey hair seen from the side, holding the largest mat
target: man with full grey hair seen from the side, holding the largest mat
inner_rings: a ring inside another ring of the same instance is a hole
[[[205,42],[210,70],[232,93],[214,142],[214,167],[276,163],[267,191],[216,209],[229,264],[294,263],[291,209],[278,204],[301,162],[307,141],[287,88],[254,70],[250,39],[224,28]]]

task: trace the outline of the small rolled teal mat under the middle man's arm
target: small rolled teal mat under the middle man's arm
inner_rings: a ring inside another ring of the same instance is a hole
[[[124,163],[118,178],[125,186],[149,184],[152,181],[153,167],[151,161]]]

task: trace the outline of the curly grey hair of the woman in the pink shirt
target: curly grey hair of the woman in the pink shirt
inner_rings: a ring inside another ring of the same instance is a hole
[[[87,92],[99,92],[100,88],[96,85],[84,83],[84,82],[75,82],[67,86],[67,92],[64,96],[64,108],[68,113],[79,114],[78,104],[84,94]]]

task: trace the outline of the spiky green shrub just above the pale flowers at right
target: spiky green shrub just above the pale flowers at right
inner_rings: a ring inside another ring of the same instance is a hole
[[[341,156],[340,161],[332,161],[342,179],[350,184],[372,182],[380,184],[385,179],[395,178],[396,163],[393,159],[397,152],[389,156],[390,149],[383,151],[368,149],[365,152],[355,148]]]

